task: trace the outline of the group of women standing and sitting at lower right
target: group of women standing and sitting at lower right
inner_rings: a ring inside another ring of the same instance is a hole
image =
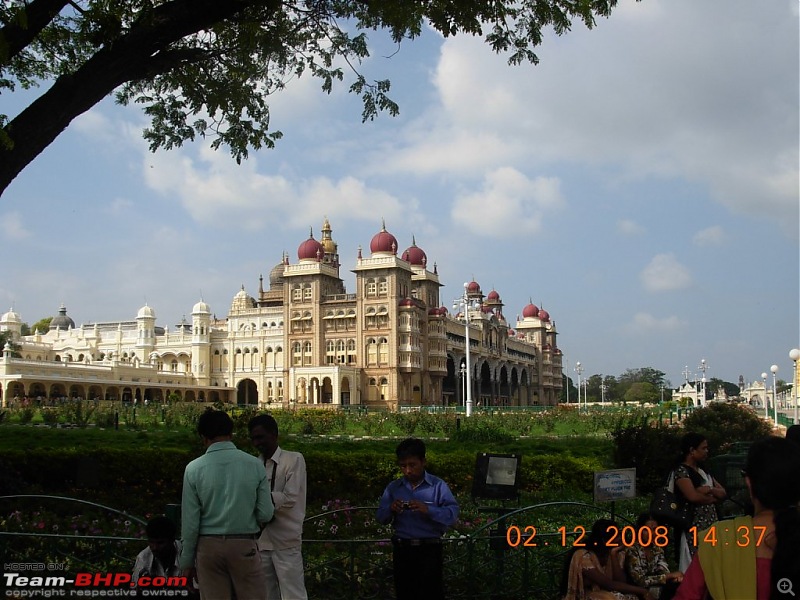
[[[676,533],[678,568],[662,547],[611,544],[614,521],[592,526],[585,547],[568,555],[564,600],[777,600],[800,585],[800,426],[786,438],[754,442],[742,471],[751,514],[718,520],[715,505],[725,489],[703,468],[708,440],[687,433],[671,478],[681,502],[692,508],[691,525]],[[634,530],[655,530],[649,513]],[[663,526],[663,525],[662,525]],[[792,594],[793,595],[793,594]]]

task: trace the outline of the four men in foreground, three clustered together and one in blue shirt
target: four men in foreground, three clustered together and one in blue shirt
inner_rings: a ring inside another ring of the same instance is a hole
[[[278,424],[270,415],[248,424],[258,457],[236,448],[233,427],[224,411],[209,410],[198,419],[205,453],[184,472],[181,539],[166,517],[151,520],[134,582],[180,574],[201,600],[306,600],[305,459],[278,445]],[[378,520],[394,529],[397,600],[444,598],[442,536],[459,507],[447,484],[427,472],[425,450],[414,438],[397,446],[402,477],[386,487],[377,511]]]

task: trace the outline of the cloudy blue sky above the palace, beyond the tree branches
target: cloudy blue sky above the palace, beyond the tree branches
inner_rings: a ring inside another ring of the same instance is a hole
[[[385,222],[436,263],[444,306],[474,279],[512,326],[545,308],[574,379],[580,361],[678,386],[705,359],[707,378],[788,380],[798,31],[796,0],[621,0],[513,67],[479,38],[372,33],[360,71],[391,79],[400,115],[362,124],[347,85],[301,77],[272,98],[284,138],[241,165],[202,141],[151,153],[141,110],[109,98],[0,197],[1,310],[33,324],[63,303],[81,324],[147,304],[172,328],[202,298],[223,317],[325,217],[353,292]]]

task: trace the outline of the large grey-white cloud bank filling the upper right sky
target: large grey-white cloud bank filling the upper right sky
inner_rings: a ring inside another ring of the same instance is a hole
[[[601,166],[700,185],[732,212],[796,230],[793,4],[730,0],[720,12],[719,3],[623,0],[592,31],[546,35],[538,66],[509,67],[480,39],[448,38],[432,77],[439,103],[380,167],[468,176]]]

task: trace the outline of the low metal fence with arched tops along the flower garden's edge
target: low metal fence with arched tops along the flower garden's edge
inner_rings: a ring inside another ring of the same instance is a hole
[[[75,516],[77,510],[80,517]],[[580,527],[589,530],[596,519],[614,517],[613,505],[577,502],[485,510],[488,517],[480,525],[468,531],[462,528],[462,533],[443,540],[445,582],[452,600],[559,598],[565,556],[580,537]],[[147,543],[142,519],[83,500],[2,496],[0,511],[0,560],[6,572],[12,564],[25,563],[28,569],[32,564],[41,565],[43,571],[57,569],[50,575],[130,573],[137,553]],[[9,515],[15,513],[27,531],[14,530],[15,517]],[[308,517],[303,554],[310,598],[394,597],[391,542],[388,530],[380,528],[374,515],[375,507],[346,507]],[[80,533],[53,529],[54,521],[70,518],[82,519],[89,529]],[[113,525],[120,520],[141,533],[108,533],[108,522]],[[627,523],[627,519],[620,520]],[[376,536],[376,531],[381,535]],[[9,591],[6,595],[13,597]]]

